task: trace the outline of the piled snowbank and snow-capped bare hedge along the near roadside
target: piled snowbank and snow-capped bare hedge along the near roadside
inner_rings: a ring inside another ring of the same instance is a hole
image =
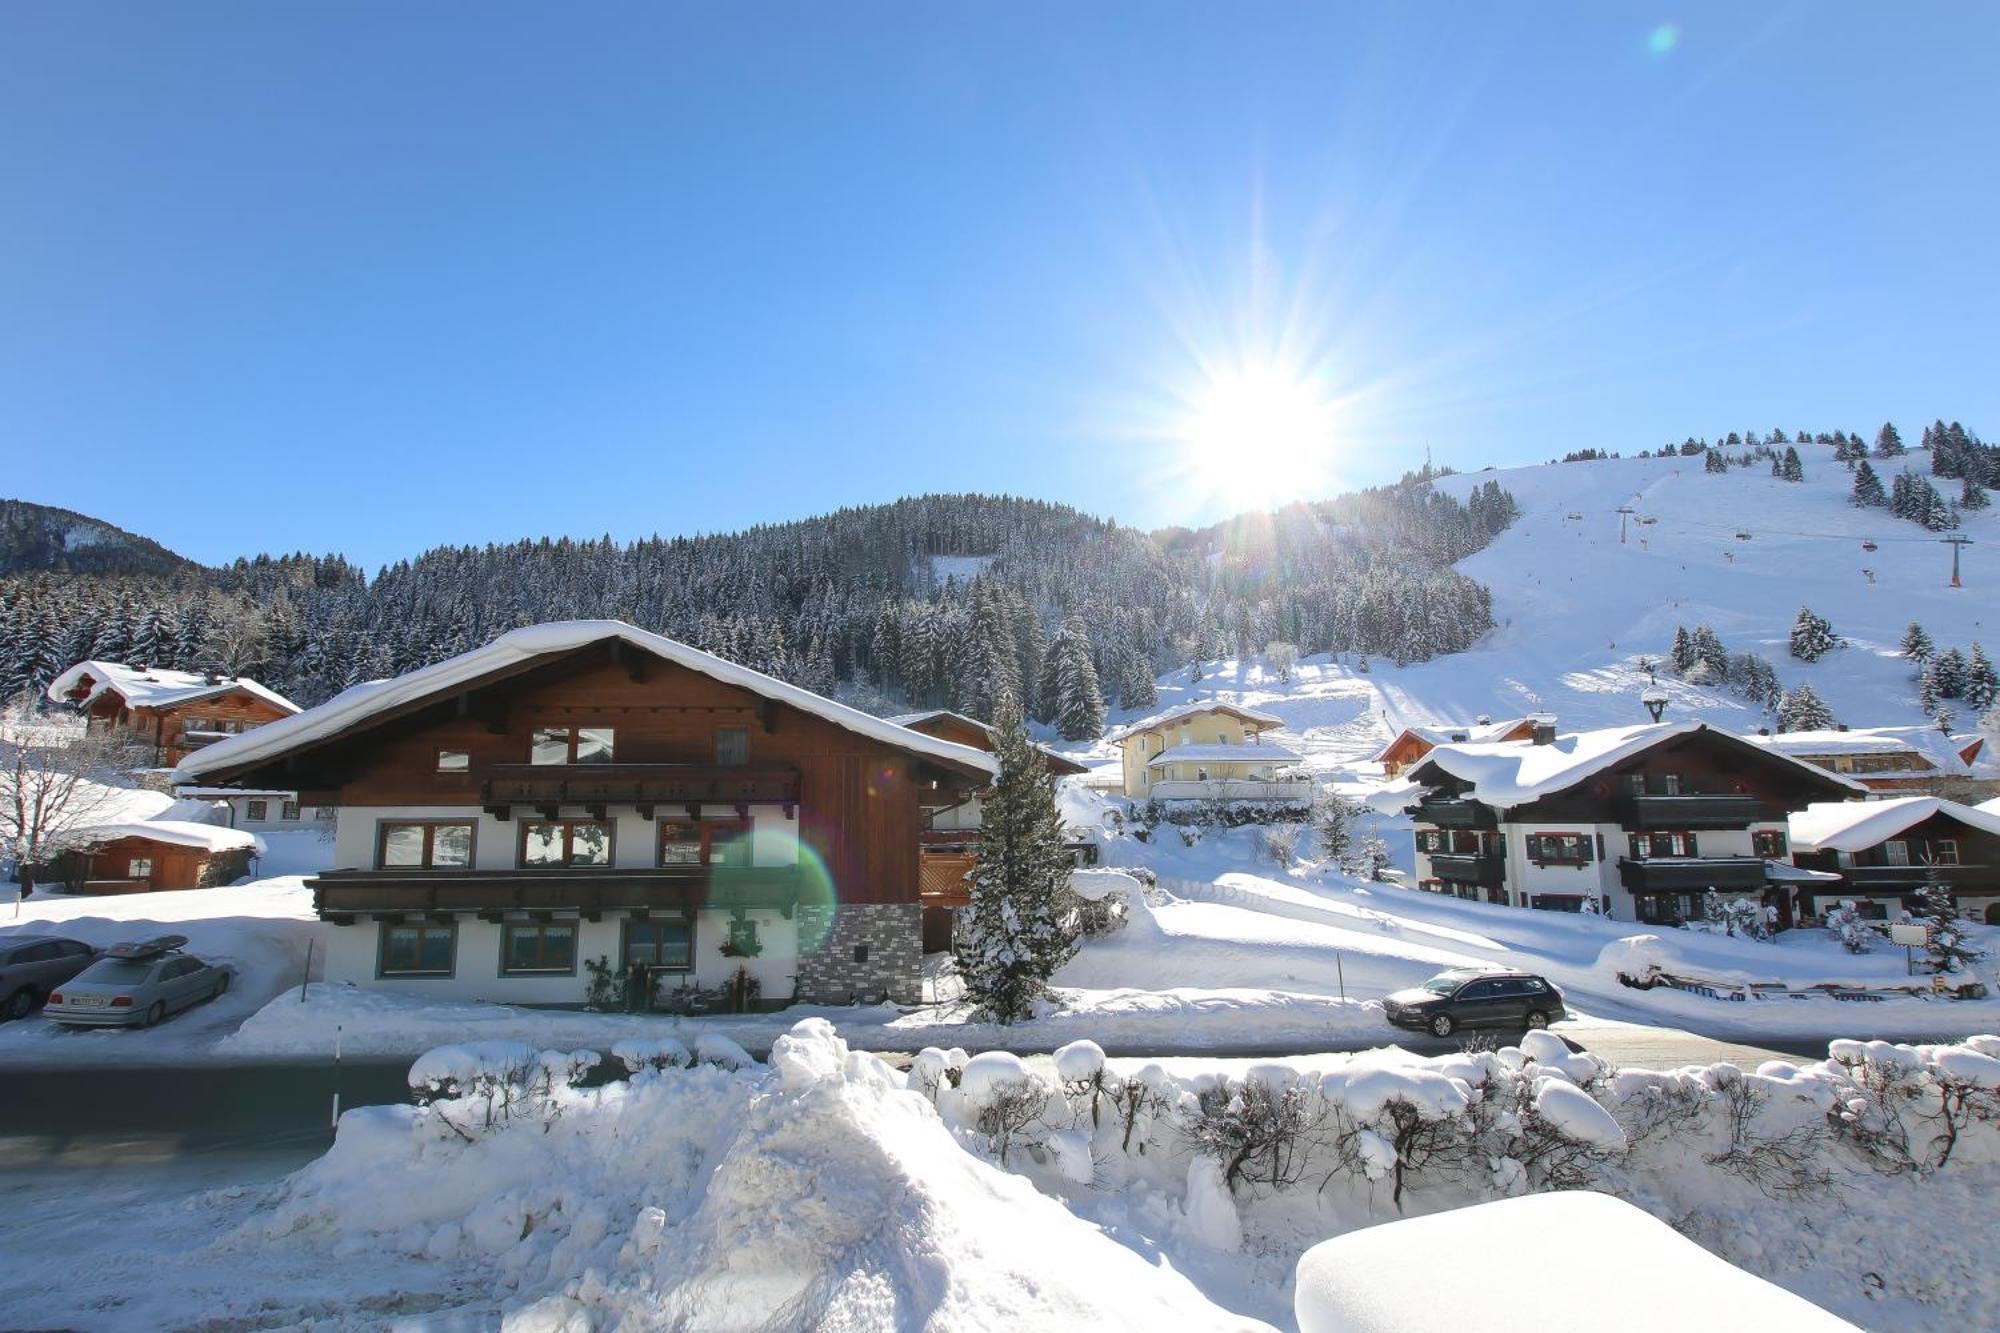
[[[1530,1033],[1172,1069],[1088,1041],[1048,1063],[928,1049],[898,1073],[806,1019],[768,1065],[720,1041],[614,1055],[632,1077],[588,1087],[588,1051],[432,1051],[410,1075],[426,1105],[342,1117],[246,1243],[450,1263],[514,1329],[880,1323],[938,1291],[996,1327],[1214,1327],[1228,1311],[1180,1271],[1234,1273],[1222,1295],[1258,1307],[1240,1313],[1282,1319],[1270,1301],[1328,1235],[1588,1187],[1784,1285],[1916,1301],[1940,1327],[2000,1299],[1968,1213],[2000,1165],[1996,1037],[1756,1071],[1612,1071]]]

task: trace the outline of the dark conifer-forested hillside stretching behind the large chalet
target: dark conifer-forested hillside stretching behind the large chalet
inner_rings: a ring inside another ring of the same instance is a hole
[[[1492,482],[1460,502],[1430,480],[1198,532],[934,494],[716,536],[440,546],[374,578],[306,554],[30,564],[0,578],[0,691],[104,656],[244,673],[312,705],[516,624],[616,616],[816,691],[986,715],[1006,687],[1052,717],[1044,675],[1076,689],[1084,662],[1130,705],[1158,671],[1270,640],[1404,662],[1468,646],[1492,626],[1490,594],[1450,564],[1516,508]]]

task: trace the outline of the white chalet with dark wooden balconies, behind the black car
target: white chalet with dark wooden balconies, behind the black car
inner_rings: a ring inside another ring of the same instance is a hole
[[[1424,889],[1672,925],[1702,895],[1762,897],[1790,925],[1788,819],[1866,789],[1702,723],[1440,745],[1370,805],[1410,809]]]

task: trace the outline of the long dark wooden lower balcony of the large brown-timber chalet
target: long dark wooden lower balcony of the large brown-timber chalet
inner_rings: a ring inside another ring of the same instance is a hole
[[[326,921],[360,913],[696,911],[798,903],[798,867],[588,871],[324,871],[306,881]]]

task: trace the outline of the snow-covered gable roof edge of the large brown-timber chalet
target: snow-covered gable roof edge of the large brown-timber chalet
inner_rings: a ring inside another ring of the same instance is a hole
[[[444,695],[446,691],[458,689],[460,685],[478,681],[496,671],[506,671],[508,666],[528,658],[574,652],[576,648],[588,648],[594,642],[606,642],[612,638],[628,642],[644,652],[652,652],[654,656],[666,658],[678,666],[686,666],[688,671],[698,671],[704,677],[722,681],[724,685],[734,685],[750,691],[752,695],[760,695],[762,699],[772,699],[798,709],[800,713],[810,713],[836,727],[868,737],[870,741],[926,755],[958,769],[998,777],[1000,765],[986,751],[970,745],[954,745],[952,741],[938,741],[936,737],[926,737],[920,731],[898,727],[888,719],[862,713],[860,709],[850,709],[844,703],[834,703],[832,699],[814,695],[808,689],[778,681],[776,677],[766,677],[762,671],[750,671],[738,662],[726,662],[712,652],[690,648],[684,642],[642,630],[634,624],[626,624],[624,620],[554,620],[550,624],[528,624],[524,628],[508,630],[486,646],[460,652],[458,656],[450,656],[430,666],[420,666],[402,677],[348,687],[316,709],[306,709],[296,717],[280,719],[230,737],[228,741],[202,747],[182,759],[174,775],[176,781],[188,781],[198,779],[204,773],[224,773],[244,765],[264,763],[288,751],[296,751],[300,747],[326,741],[328,737],[352,727],[360,727],[390,709],[430,699],[434,695]]]

